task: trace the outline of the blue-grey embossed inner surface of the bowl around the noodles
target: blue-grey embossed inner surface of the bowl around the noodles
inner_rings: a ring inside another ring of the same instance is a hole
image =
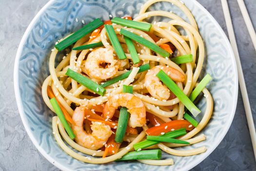
[[[215,150],[227,133],[236,110],[237,71],[231,45],[217,21],[196,0],[185,0],[197,21],[205,43],[205,62],[200,78],[209,73],[213,80],[207,86],[213,95],[214,111],[209,124],[199,133],[206,140],[178,148],[194,149],[205,146],[207,151],[187,157],[173,156],[163,152],[163,158],[173,158],[173,166],[150,166],[137,161],[111,162],[94,165],[80,162],[66,154],[55,141],[52,133],[54,113],[48,109],[41,97],[41,85],[49,75],[48,60],[57,40],[78,30],[83,21],[96,18],[103,21],[109,16],[122,17],[138,15],[146,0],[50,0],[28,26],[17,52],[14,68],[14,85],[17,104],[23,125],[39,152],[63,171],[187,171],[204,160]],[[176,6],[168,2],[154,4],[149,10],[173,11],[187,21]],[[77,19],[77,20],[76,20]],[[150,21],[166,20],[153,17]],[[59,52],[59,54],[64,52]],[[61,55],[59,55],[60,60]],[[202,113],[204,97],[197,103]]]

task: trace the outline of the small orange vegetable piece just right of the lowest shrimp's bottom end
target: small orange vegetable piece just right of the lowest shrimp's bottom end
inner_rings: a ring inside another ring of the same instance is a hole
[[[121,145],[121,143],[117,143],[115,141],[115,134],[112,134],[108,138],[107,147],[105,148],[102,158],[105,158],[108,155],[116,154],[118,152],[120,145]]]

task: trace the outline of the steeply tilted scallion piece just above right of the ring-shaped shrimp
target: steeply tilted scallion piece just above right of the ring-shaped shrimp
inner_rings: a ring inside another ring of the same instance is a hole
[[[113,28],[112,25],[104,25],[105,29],[106,29],[106,32],[108,34],[108,38],[110,40],[110,42],[112,43],[112,46],[114,47],[117,55],[118,55],[118,58],[119,60],[124,60],[126,59],[126,56],[125,56],[125,53],[118,41],[118,37],[115,33],[115,30]]]

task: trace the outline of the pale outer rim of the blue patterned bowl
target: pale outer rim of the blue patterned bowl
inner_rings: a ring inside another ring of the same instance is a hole
[[[39,19],[39,17],[41,16],[41,14],[43,12],[45,12],[45,10],[54,2],[55,0],[49,0],[40,10],[39,12],[36,14],[36,16],[33,18],[33,20],[30,22],[30,24],[28,25],[26,31],[24,32],[24,35],[21,38],[17,53],[16,53],[16,57],[15,57],[15,64],[14,64],[14,91],[15,91],[15,97],[16,97],[16,102],[17,102],[17,106],[18,106],[18,110],[20,113],[20,118],[22,121],[22,124],[29,136],[29,138],[31,139],[32,143],[36,146],[36,148],[39,150],[39,152],[54,166],[56,166],[57,168],[63,170],[63,171],[72,171],[71,169],[63,166],[61,163],[59,163],[58,161],[55,161],[51,155],[47,154],[46,151],[44,149],[42,149],[37,140],[34,138],[28,124],[26,121],[26,117],[24,114],[24,110],[23,110],[23,106],[22,106],[22,100],[20,97],[20,89],[19,89],[19,64],[20,64],[20,56],[21,56],[21,52],[22,52],[22,48],[24,46],[24,43],[28,37],[28,34],[30,33],[30,31],[32,30],[35,22]],[[228,123],[226,123],[226,126],[224,127],[224,131],[221,131],[221,134],[218,138],[218,140],[212,145],[214,148],[210,149],[210,150],[206,150],[206,152],[202,153],[202,155],[197,159],[197,162],[193,162],[190,165],[186,165],[185,167],[183,167],[180,171],[188,171],[192,168],[194,168],[195,166],[197,166],[199,163],[201,163],[206,157],[208,157],[213,150],[215,150],[217,148],[217,146],[219,145],[219,143],[223,140],[224,136],[226,135],[226,133],[228,132],[234,116],[235,116],[235,112],[236,112],[236,105],[237,105],[237,97],[238,97],[238,74],[237,74],[237,65],[236,65],[236,59],[235,59],[235,55],[234,52],[232,50],[231,44],[226,36],[226,34],[224,33],[224,31],[222,30],[222,28],[220,27],[220,25],[218,24],[218,22],[215,20],[215,18],[211,15],[211,13],[209,13],[199,2],[197,2],[197,0],[192,0],[192,3],[195,3],[195,5],[197,5],[203,12],[205,12],[210,18],[211,21],[216,25],[218,31],[221,34],[221,37],[223,37],[224,42],[228,44],[228,51],[231,53],[232,58],[233,58],[233,67],[234,67],[234,72],[235,72],[235,92],[234,92],[234,99],[233,99],[233,108],[232,108],[232,112],[230,114],[230,119],[228,121]],[[64,151],[63,151],[64,152]],[[67,154],[68,155],[68,154]]]

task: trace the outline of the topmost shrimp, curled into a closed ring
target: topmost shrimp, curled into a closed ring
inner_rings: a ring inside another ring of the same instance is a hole
[[[113,56],[113,49],[98,48],[92,51],[84,64],[84,68],[87,74],[91,78],[96,79],[108,79],[113,77],[118,72],[117,60]],[[100,66],[100,64],[109,63],[106,68]]]

